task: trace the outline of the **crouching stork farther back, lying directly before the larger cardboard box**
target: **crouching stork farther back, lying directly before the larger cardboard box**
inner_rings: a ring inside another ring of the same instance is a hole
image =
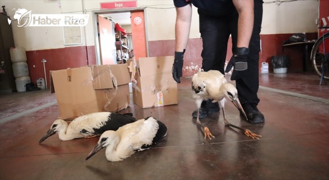
[[[39,143],[58,133],[61,140],[71,140],[81,137],[95,137],[107,130],[117,130],[122,125],[135,122],[132,113],[117,114],[111,112],[90,113],[77,117],[67,125],[63,119],[55,120]]]

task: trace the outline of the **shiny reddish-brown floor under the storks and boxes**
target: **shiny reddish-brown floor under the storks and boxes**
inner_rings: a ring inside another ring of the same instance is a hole
[[[178,84],[178,105],[141,109],[168,135],[150,150],[118,162],[105,149],[85,161],[98,138],[39,139],[58,117],[48,90],[0,95],[0,179],[329,179],[329,85],[313,73],[260,75],[259,104],[265,123],[249,124],[233,104],[228,120],[261,134],[259,140],[224,126],[221,113],[201,119],[215,138],[204,139],[191,113],[191,79]],[[220,120],[218,120],[218,116]]]

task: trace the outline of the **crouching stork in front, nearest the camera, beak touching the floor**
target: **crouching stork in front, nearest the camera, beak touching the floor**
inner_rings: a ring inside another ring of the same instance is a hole
[[[133,155],[136,151],[150,149],[167,135],[167,127],[153,117],[137,120],[123,125],[117,131],[105,131],[90,151],[86,160],[106,147],[108,161],[119,161]]]

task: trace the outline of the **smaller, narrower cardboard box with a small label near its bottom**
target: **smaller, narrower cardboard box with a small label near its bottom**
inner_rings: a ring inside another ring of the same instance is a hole
[[[139,58],[133,83],[134,103],[142,108],[178,103],[177,83],[172,77],[173,56]]]

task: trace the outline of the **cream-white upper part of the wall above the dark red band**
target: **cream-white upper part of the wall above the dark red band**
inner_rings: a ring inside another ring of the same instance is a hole
[[[6,5],[13,20],[14,8],[32,10],[35,14],[87,13],[89,22],[82,28],[83,45],[95,45],[93,13],[100,12],[100,2],[113,0],[0,0]],[[280,5],[273,0],[264,0],[262,34],[317,32],[315,19],[318,17],[318,0],[294,1]],[[176,11],[172,0],[138,0],[139,8],[146,8],[147,33],[149,41],[173,40]],[[198,15],[193,9],[190,38],[199,38]],[[63,48],[62,27],[17,27],[12,22],[16,46],[26,50]]]

